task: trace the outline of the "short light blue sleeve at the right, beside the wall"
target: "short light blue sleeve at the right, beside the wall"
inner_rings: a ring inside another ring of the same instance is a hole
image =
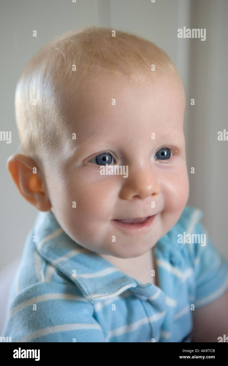
[[[192,234],[195,235],[194,244],[191,244],[196,283],[195,308],[199,308],[220,298],[228,289],[228,261],[215,248],[200,222],[194,225]]]

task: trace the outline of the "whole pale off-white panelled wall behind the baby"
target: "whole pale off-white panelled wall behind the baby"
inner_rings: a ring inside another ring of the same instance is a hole
[[[205,212],[204,224],[225,256],[227,249],[228,142],[217,141],[227,127],[226,0],[12,0],[0,5],[1,131],[12,131],[12,142],[1,149],[0,269],[21,254],[37,210],[16,190],[6,160],[21,152],[14,116],[14,91],[20,72],[46,42],[67,30],[111,26],[145,37],[163,48],[176,64],[186,89],[185,131],[189,204]],[[206,41],[178,39],[183,26],[206,28]],[[32,31],[37,30],[37,37]],[[190,106],[190,98],[195,106]]]

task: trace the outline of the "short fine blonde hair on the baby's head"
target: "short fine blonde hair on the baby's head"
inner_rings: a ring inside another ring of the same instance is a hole
[[[115,37],[113,33],[112,28],[96,26],[73,30],[46,44],[29,61],[15,91],[16,124],[26,155],[44,156],[67,136],[68,93],[78,92],[87,77],[125,75],[129,82],[140,83],[179,75],[152,42],[123,31],[116,31]]]

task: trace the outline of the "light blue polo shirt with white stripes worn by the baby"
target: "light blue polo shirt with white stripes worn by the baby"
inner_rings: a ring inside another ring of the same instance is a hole
[[[51,211],[39,212],[11,287],[3,336],[12,342],[190,342],[193,305],[205,306],[228,288],[228,262],[199,223],[202,216],[186,206],[154,246],[157,286],[127,276],[74,242]],[[185,239],[195,234],[205,234],[206,245]]]

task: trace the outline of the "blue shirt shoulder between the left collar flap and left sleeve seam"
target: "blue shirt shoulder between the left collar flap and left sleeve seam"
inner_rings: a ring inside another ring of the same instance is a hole
[[[71,281],[69,276],[64,275],[56,265],[52,265],[37,250],[33,228],[27,235],[19,266],[16,269],[14,280],[8,298],[8,307],[14,307],[28,299],[39,298],[42,300],[46,294],[69,294],[78,296],[79,300],[86,301],[81,290]]]

